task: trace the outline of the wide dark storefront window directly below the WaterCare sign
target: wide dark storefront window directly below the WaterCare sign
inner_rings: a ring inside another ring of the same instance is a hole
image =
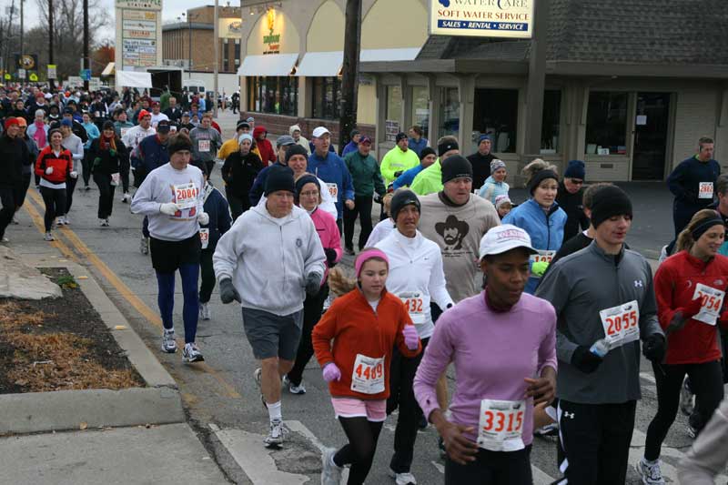
[[[473,106],[472,150],[480,135],[490,135],[493,153],[515,153],[518,127],[518,89],[476,89]]]

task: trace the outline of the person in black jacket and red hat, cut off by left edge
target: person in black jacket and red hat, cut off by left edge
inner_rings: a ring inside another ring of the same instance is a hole
[[[5,228],[15,214],[15,189],[23,183],[23,164],[27,163],[28,147],[17,137],[19,128],[15,117],[5,119],[5,133],[0,136],[0,242],[8,242]]]

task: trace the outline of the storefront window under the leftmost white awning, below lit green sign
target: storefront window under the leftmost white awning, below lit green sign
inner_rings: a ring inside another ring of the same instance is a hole
[[[248,77],[248,111],[298,116],[298,77]]]

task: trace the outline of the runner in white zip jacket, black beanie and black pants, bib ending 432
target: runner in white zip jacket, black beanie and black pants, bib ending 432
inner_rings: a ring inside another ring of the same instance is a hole
[[[387,413],[399,407],[399,417],[389,472],[397,483],[416,483],[410,473],[410,466],[422,411],[415,399],[412,381],[435,331],[430,301],[443,310],[450,308],[453,301],[446,287],[440,247],[417,230],[420,222],[420,200],[417,195],[408,189],[395,192],[391,199],[390,214],[395,229],[379,241],[375,248],[379,248],[389,258],[387,290],[401,298],[410,312],[412,323],[422,341],[422,352],[413,359],[405,358],[397,349],[392,354]]]

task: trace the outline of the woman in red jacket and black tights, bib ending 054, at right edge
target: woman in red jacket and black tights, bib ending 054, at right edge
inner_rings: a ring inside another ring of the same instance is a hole
[[[654,276],[667,354],[663,364],[652,364],[657,414],[647,429],[644,457],[637,466],[645,483],[664,483],[660,449],[675,420],[685,374],[690,377],[697,402],[698,412],[688,425],[693,438],[723,400],[717,325],[728,325],[728,311],[724,309],[728,258],[718,254],[724,239],[723,218],[711,209],[699,211],[678,236],[678,252],[665,259]]]

